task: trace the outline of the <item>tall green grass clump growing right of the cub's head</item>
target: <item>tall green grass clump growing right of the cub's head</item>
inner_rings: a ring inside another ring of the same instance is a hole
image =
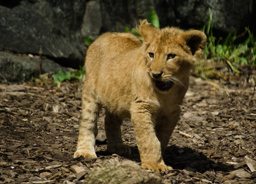
[[[230,32],[225,39],[222,37],[216,38],[212,31],[212,12],[209,9],[210,18],[207,24],[202,28],[202,31],[207,35],[208,43],[205,47],[205,58],[210,58],[214,62],[224,62],[233,73],[240,73],[239,68],[242,65],[254,65],[256,52],[256,42],[249,28],[245,28],[245,33],[236,35],[235,32]],[[235,44],[238,37],[248,35],[245,42]]]

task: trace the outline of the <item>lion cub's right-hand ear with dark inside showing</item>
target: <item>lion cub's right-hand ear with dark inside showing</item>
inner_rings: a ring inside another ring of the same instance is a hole
[[[195,57],[200,57],[204,52],[206,45],[206,36],[200,30],[188,30],[183,33],[186,45],[190,48],[191,53]]]

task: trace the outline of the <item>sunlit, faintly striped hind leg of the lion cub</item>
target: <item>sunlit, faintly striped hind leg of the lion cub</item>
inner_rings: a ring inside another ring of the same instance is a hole
[[[97,158],[95,152],[95,137],[98,134],[97,119],[100,106],[96,98],[83,93],[82,96],[82,118],[79,129],[77,151],[74,158],[83,156],[86,158]]]

